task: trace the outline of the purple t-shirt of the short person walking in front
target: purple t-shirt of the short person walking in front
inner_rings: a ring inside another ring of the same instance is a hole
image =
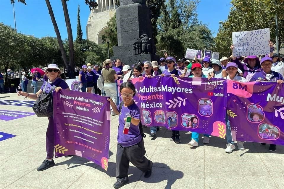
[[[139,130],[139,125],[136,126],[130,123],[128,134],[123,134],[124,125],[125,125],[124,118],[126,118],[127,116],[131,116],[136,119],[141,118],[139,107],[135,103],[133,103],[128,107],[125,107],[123,105],[121,110],[119,106],[117,106],[117,110],[120,112],[118,117],[118,123],[119,123],[118,134],[117,134],[118,144],[120,144],[123,147],[128,147],[139,143],[142,139]]]

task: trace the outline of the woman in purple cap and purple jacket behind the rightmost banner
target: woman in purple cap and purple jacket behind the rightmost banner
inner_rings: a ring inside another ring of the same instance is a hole
[[[258,72],[254,74],[254,76],[251,77],[251,81],[270,81],[270,82],[277,82],[278,84],[284,83],[283,76],[279,74],[276,71],[272,71],[272,59],[270,57],[264,57],[260,61],[261,68],[263,69],[261,72]],[[262,145],[265,145],[265,143],[261,143]],[[270,144],[269,151],[275,152],[276,151],[276,145]]]

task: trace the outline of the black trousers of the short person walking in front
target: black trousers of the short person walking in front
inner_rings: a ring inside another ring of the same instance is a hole
[[[125,181],[128,179],[129,162],[142,172],[152,169],[153,162],[145,157],[144,141],[129,147],[122,147],[117,144],[116,152],[116,179]]]

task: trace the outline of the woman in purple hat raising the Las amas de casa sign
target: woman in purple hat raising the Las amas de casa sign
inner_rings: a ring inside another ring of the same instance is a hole
[[[273,43],[270,41],[269,45],[270,45],[270,57],[272,57],[273,50],[274,50]],[[235,48],[235,46],[231,45],[230,48],[233,54],[233,49]],[[232,58],[233,58],[233,62],[235,62],[238,68],[241,69],[241,71],[243,72],[243,77],[246,78],[246,80],[250,80],[253,74],[262,71],[262,68],[259,63],[259,58],[257,58],[257,56],[246,57],[244,60],[246,64],[241,63],[235,56],[233,56]]]

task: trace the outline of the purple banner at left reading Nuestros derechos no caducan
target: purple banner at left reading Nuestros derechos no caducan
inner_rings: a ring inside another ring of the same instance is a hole
[[[110,103],[91,93],[60,90],[53,93],[55,157],[77,155],[107,170]]]

